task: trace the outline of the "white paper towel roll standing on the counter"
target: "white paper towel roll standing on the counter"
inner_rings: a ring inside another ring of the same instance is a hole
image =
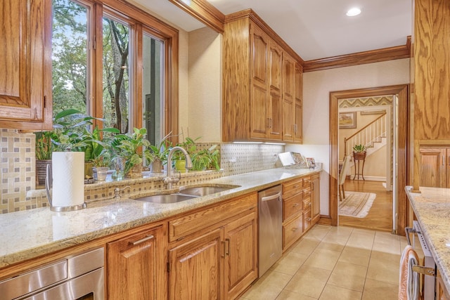
[[[84,152],[53,152],[53,207],[84,203]]]

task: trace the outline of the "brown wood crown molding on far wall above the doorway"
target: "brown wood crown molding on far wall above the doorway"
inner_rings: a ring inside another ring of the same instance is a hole
[[[335,67],[349,67],[352,65],[364,65],[366,63],[379,63],[385,60],[397,60],[411,57],[411,36],[406,37],[406,44],[381,48],[371,51],[363,51],[343,56],[319,58],[307,60],[303,63],[303,72],[333,69]]]

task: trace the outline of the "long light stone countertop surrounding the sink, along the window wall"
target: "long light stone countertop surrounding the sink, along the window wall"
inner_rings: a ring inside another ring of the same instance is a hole
[[[240,188],[173,204],[122,197],[91,202],[79,211],[58,213],[43,207],[0,214],[0,268],[320,171],[278,168],[221,177],[205,183]]]

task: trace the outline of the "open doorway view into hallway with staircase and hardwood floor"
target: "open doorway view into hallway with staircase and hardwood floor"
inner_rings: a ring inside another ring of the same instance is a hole
[[[340,100],[338,157],[340,162],[344,157],[350,160],[347,172],[340,168],[340,181],[346,179],[341,186],[345,198],[341,195],[338,205],[339,226],[392,230],[396,99],[385,95]],[[345,116],[351,117],[351,124]],[[364,155],[353,155],[355,145],[364,146]]]

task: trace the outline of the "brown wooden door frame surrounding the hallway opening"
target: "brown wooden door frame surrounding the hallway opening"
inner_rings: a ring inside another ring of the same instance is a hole
[[[393,210],[396,211],[392,220],[392,233],[404,234],[406,226],[407,200],[404,186],[406,185],[407,170],[407,144],[408,144],[408,109],[409,109],[409,85],[382,86],[369,89],[354,89],[347,91],[336,91],[330,93],[330,223],[338,226],[338,112],[339,100],[345,98],[361,98],[368,96],[397,95],[397,145],[394,164],[397,167],[397,175],[394,176],[397,189],[394,195]]]

